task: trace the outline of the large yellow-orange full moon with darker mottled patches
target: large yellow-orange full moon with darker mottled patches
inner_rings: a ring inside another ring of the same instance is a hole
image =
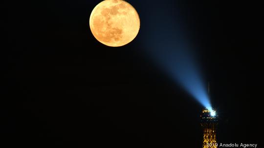
[[[124,0],[104,0],[91,12],[89,25],[99,42],[118,47],[136,37],[140,20],[136,10]]]

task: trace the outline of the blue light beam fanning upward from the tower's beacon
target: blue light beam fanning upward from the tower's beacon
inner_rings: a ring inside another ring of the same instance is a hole
[[[146,22],[150,23],[147,28],[149,34],[145,36],[148,39],[147,54],[202,106],[212,111],[207,89],[195,60],[198,55],[194,54],[195,48],[190,47],[186,37],[188,32],[183,31],[182,24],[178,23],[180,16],[172,16],[171,6],[166,2],[152,4],[152,7],[158,7],[162,11],[150,11],[152,14],[148,14],[149,20]],[[156,23],[157,20],[162,22],[161,26]]]

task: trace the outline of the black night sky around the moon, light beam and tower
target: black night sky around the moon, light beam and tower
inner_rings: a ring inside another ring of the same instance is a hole
[[[262,5],[127,0],[138,11],[140,32],[128,45],[112,48],[97,42],[88,26],[100,1],[10,1],[0,112],[9,145],[201,147],[202,106],[145,52],[152,23],[167,25],[162,16],[155,22],[148,17],[163,11],[181,17],[172,21],[180,20],[198,47],[219,110],[219,142],[261,145]],[[175,9],[154,7],[161,2]]]

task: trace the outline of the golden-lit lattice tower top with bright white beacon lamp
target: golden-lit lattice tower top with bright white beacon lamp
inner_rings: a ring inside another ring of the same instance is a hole
[[[215,110],[203,109],[200,115],[201,126],[203,128],[202,148],[217,148],[216,129],[218,125],[218,115]]]

